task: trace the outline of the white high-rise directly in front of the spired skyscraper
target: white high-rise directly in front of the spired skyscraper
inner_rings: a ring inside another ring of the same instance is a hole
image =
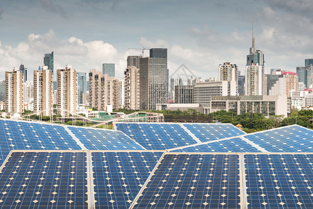
[[[245,95],[263,95],[264,67],[258,63],[245,66]]]

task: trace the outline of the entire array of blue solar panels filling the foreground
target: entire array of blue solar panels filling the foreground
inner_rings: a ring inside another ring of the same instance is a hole
[[[0,120],[0,208],[313,208],[305,127],[115,126]]]

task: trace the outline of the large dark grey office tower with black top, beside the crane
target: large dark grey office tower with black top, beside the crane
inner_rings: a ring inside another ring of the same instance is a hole
[[[140,109],[166,102],[167,77],[167,49],[150,49],[150,56],[140,59]]]

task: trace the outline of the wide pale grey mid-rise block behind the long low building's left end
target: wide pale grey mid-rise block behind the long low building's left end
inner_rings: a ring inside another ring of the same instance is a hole
[[[197,82],[194,86],[194,103],[202,107],[208,107],[211,98],[217,95],[228,95],[228,82]]]

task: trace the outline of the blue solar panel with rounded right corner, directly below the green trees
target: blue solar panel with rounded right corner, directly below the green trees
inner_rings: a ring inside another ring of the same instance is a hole
[[[245,132],[231,124],[182,123],[182,125],[190,130],[190,132],[202,142],[236,137],[245,134]]]

